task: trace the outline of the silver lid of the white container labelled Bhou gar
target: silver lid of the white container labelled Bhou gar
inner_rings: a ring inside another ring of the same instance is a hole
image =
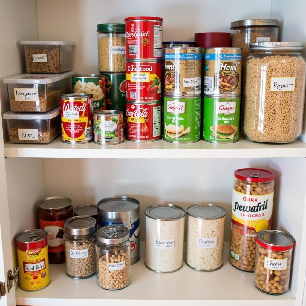
[[[155,204],[146,208],[144,214],[155,220],[178,220],[185,216],[185,210],[174,204]]]

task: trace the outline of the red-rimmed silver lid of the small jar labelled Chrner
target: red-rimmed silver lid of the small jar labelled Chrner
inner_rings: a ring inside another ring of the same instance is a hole
[[[257,243],[272,251],[287,251],[293,248],[293,237],[280,230],[262,230],[257,233]]]

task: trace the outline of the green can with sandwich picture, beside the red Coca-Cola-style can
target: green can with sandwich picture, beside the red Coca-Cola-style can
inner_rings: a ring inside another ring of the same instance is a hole
[[[164,140],[191,143],[200,140],[201,97],[164,96]]]

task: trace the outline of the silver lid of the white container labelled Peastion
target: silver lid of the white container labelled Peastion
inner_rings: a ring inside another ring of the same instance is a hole
[[[194,204],[187,208],[187,214],[198,219],[220,219],[226,210],[215,204]]]

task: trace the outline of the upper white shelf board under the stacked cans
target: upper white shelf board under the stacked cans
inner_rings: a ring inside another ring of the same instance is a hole
[[[193,144],[125,140],[122,144],[101,146],[93,142],[65,144],[58,136],[50,144],[12,144],[8,141],[4,144],[4,154],[5,157],[129,159],[305,157],[306,143],[297,140],[292,144],[261,144],[241,135],[240,140],[232,144],[213,144],[203,140]]]

